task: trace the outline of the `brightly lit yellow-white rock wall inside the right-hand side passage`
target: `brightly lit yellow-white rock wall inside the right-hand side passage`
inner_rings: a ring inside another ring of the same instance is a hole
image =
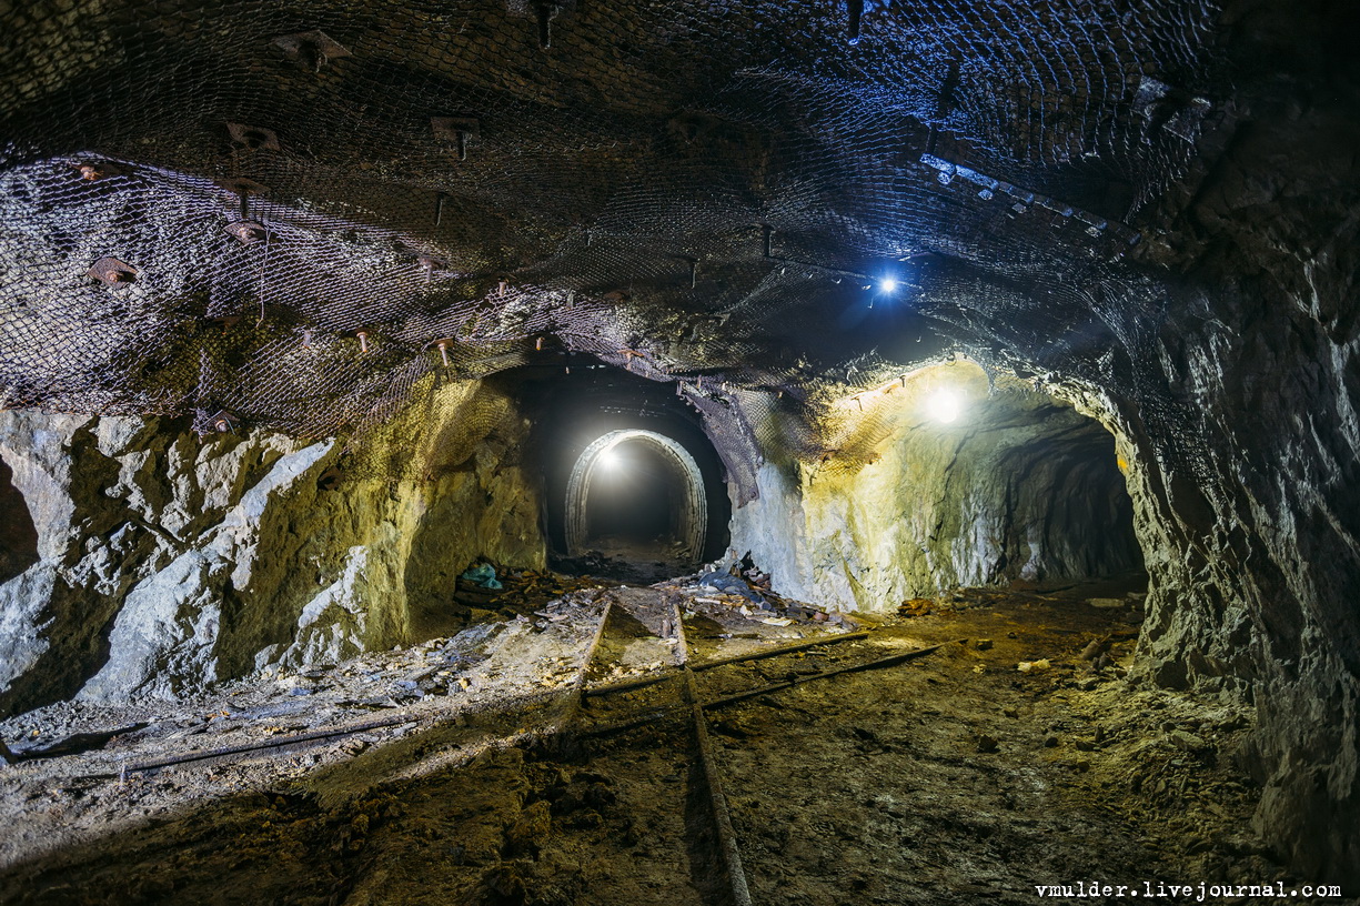
[[[960,395],[957,422],[926,411],[940,392]],[[1141,569],[1114,438],[1069,405],[972,363],[851,405],[883,434],[876,461],[789,465],[770,450],[759,498],[734,506],[733,548],[781,592],[885,611],[960,585]]]

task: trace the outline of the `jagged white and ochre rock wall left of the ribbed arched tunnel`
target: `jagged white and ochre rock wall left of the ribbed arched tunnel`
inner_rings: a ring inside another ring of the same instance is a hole
[[[35,562],[0,584],[0,711],[428,638],[458,624],[447,592],[475,558],[541,567],[511,401],[477,382],[418,399],[354,452],[0,412],[16,491],[0,521],[37,536]]]

